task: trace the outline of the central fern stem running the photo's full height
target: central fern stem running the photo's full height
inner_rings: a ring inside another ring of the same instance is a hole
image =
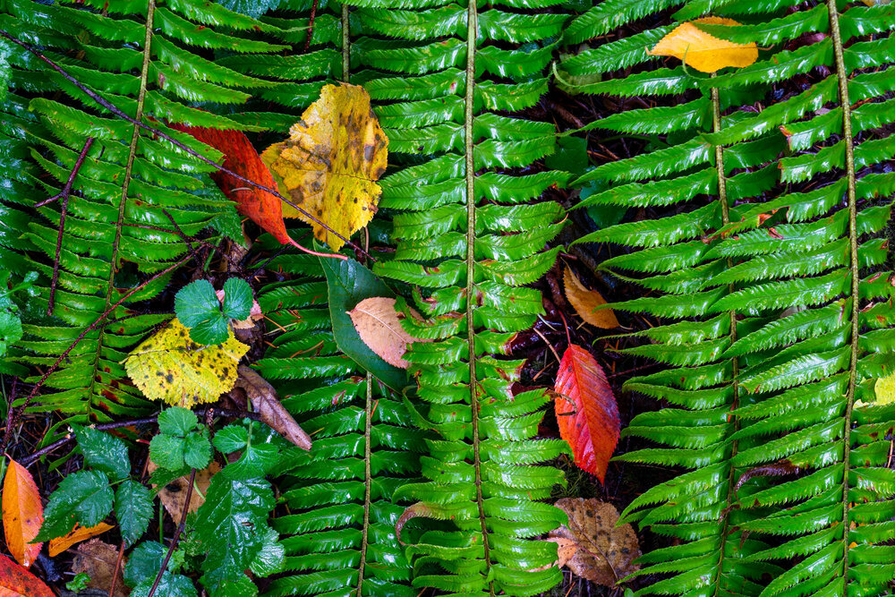
[[[485,523],[484,499],[482,499],[482,455],[479,440],[478,378],[475,374],[475,160],[473,159],[473,91],[475,89],[475,46],[478,36],[478,6],[476,0],[467,0],[466,8],[466,94],[465,94],[465,151],[466,151],[466,343],[469,350],[469,394],[473,410],[473,468],[475,469],[475,501],[482,525],[482,547],[485,556],[485,576],[490,576],[490,545],[488,525]],[[494,594],[494,583],[489,581],[488,591]]]

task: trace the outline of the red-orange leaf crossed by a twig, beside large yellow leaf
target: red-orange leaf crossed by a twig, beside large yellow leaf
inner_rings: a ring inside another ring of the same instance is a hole
[[[217,149],[224,154],[224,166],[226,169],[249,180],[263,184],[268,189],[277,189],[274,177],[270,175],[268,166],[261,161],[258,151],[252,147],[249,138],[241,131],[207,129],[200,126],[185,126],[183,124],[168,124],[176,131],[183,131],[192,135],[206,145]],[[249,187],[247,183],[218,170],[211,178],[231,200],[236,202],[236,209],[243,216],[247,216],[252,222],[267,230],[274,238],[283,244],[295,244],[286,233],[286,225],[283,223],[282,201],[266,191],[255,187]]]

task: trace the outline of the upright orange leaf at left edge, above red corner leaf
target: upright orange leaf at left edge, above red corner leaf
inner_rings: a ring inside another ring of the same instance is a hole
[[[10,553],[23,567],[38,558],[42,543],[31,544],[44,522],[38,486],[24,466],[9,461],[3,482],[3,530]]]

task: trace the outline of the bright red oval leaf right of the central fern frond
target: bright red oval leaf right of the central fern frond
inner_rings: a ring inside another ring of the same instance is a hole
[[[606,375],[589,352],[569,345],[559,362],[556,391],[559,435],[572,447],[575,464],[603,482],[621,431]]]

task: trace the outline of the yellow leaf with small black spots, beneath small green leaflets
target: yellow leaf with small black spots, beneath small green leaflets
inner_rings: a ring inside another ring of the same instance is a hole
[[[215,402],[233,389],[236,365],[248,350],[233,331],[223,344],[197,344],[175,318],[134,348],[124,368],[150,399],[189,408],[197,402]]]

